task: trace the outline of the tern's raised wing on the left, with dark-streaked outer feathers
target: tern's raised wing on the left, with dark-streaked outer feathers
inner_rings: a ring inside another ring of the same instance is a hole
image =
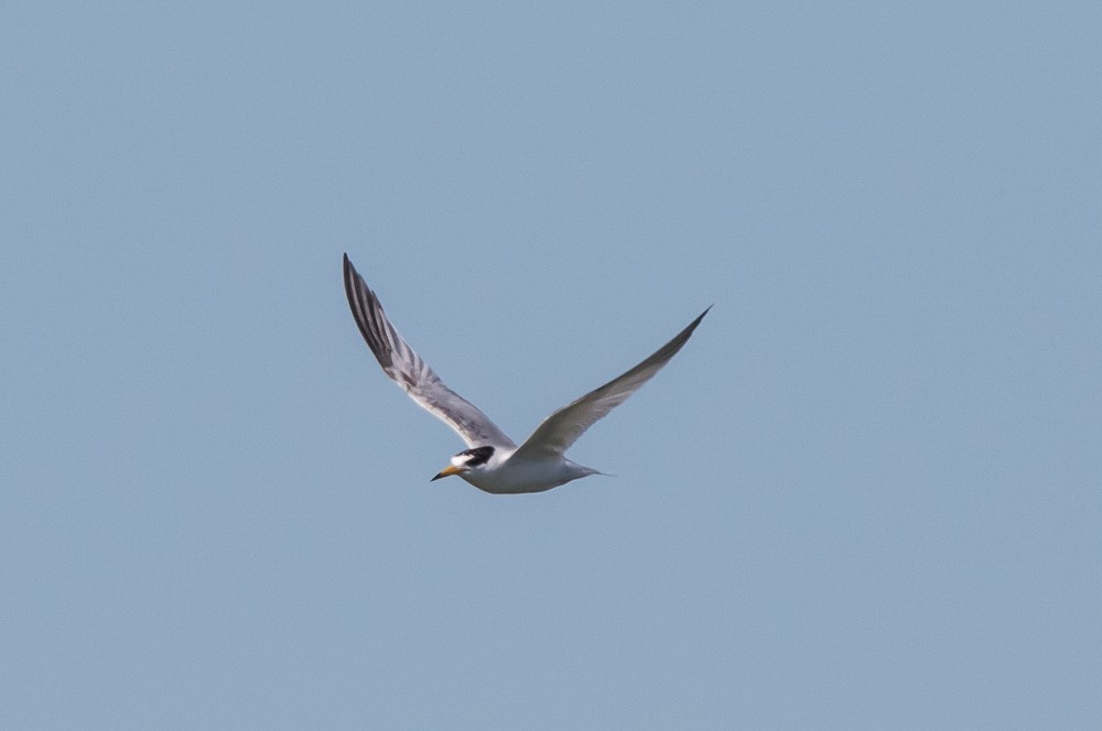
[[[423,408],[455,429],[468,447],[489,445],[511,448],[512,440],[486,414],[440,380],[429,364],[402,340],[387,319],[379,298],[364,282],[345,254],[345,292],[352,316],[390,380],[401,386]]]

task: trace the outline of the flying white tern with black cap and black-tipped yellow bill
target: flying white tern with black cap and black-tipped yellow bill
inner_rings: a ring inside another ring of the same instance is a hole
[[[564,452],[594,422],[624,403],[662,369],[689,340],[709,307],[652,356],[599,389],[548,416],[519,447],[477,406],[440,380],[429,364],[398,335],[379,298],[344,257],[345,293],[352,315],[382,371],[413,401],[451,426],[467,448],[433,477],[450,474],[486,492],[542,492],[602,472],[566,459]]]

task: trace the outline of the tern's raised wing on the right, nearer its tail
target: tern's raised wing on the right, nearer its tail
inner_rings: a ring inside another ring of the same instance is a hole
[[[670,359],[689,341],[689,336],[704,319],[707,309],[650,358],[543,419],[543,423],[536,427],[532,435],[520,445],[515,456],[532,459],[561,457],[570,445],[582,436],[583,432],[593,426],[594,422],[624,403],[644,383],[653,378],[655,373],[660,371],[666,363],[670,362]]]

